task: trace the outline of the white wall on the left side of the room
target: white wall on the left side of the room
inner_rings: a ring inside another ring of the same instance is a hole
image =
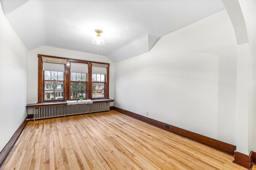
[[[28,50],[0,4],[0,151],[26,117]]]

